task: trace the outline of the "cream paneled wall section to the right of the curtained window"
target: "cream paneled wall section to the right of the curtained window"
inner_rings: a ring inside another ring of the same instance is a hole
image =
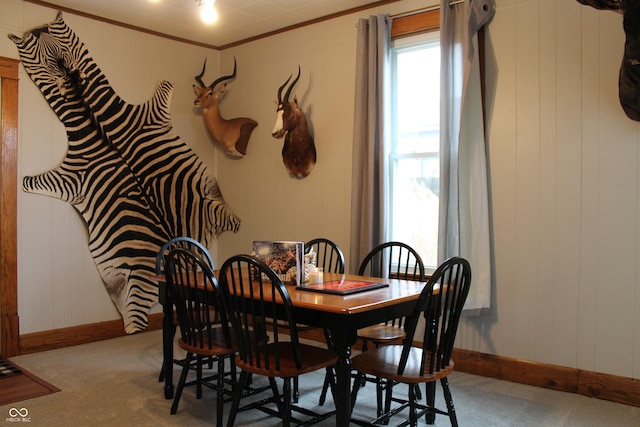
[[[640,133],[618,102],[622,17],[498,1],[490,37],[494,311],[457,344],[640,378]]]

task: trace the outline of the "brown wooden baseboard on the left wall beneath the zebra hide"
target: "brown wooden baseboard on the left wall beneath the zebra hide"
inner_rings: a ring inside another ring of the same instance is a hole
[[[158,329],[162,329],[162,313],[153,313],[149,315],[149,326],[147,329],[139,333]],[[88,344],[125,335],[127,334],[124,332],[122,319],[33,332],[20,336],[20,354],[37,353],[72,345]]]

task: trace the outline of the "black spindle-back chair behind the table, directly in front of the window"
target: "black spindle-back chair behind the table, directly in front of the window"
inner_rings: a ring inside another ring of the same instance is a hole
[[[358,275],[383,277],[387,279],[404,279],[423,281],[424,263],[418,252],[403,242],[386,242],[373,248],[362,260],[358,268]],[[368,326],[358,330],[358,338],[362,343],[362,351],[366,352],[369,342],[375,347],[399,343],[405,337],[404,317],[392,319],[388,322]],[[380,377],[374,379],[362,377],[366,381],[376,383],[376,398],[378,416],[382,414],[383,391],[385,382]],[[419,393],[419,391],[418,391]]]

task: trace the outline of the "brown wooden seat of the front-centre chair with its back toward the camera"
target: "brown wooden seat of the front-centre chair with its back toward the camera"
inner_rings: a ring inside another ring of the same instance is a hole
[[[292,346],[283,346],[280,343],[280,370],[275,369],[275,349],[274,344],[267,344],[271,357],[269,358],[269,366],[271,369],[260,368],[255,365],[245,363],[240,356],[236,356],[236,366],[257,375],[264,375],[267,377],[277,376],[280,378],[293,378],[308,372],[313,372],[318,369],[326,368],[335,364],[338,360],[338,356],[332,350],[325,348],[315,347],[307,344],[300,344],[300,354],[302,354],[302,366],[297,368],[295,365],[295,358],[293,356]],[[274,351],[271,351],[271,350]]]

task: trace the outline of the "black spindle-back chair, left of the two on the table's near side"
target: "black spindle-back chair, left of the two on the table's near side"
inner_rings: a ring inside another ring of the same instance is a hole
[[[234,356],[236,345],[226,316],[226,300],[208,263],[185,248],[176,248],[165,257],[164,273],[169,286],[180,328],[178,345],[187,352],[180,380],[171,405],[171,414],[185,386],[196,385],[196,397],[202,397],[202,386],[217,391],[217,422],[222,426],[225,394],[225,361],[230,360],[231,383],[236,377]],[[195,357],[196,379],[187,382],[187,374]],[[203,377],[205,358],[217,360],[214,375]]]

